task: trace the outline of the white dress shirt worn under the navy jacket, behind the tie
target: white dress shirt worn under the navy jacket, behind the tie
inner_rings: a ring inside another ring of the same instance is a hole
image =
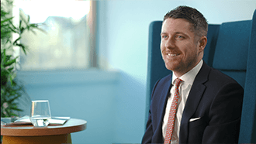
[[[199,70],[202,67],[202,60],[194,67],[192,70],[189,70],[187,73],[183,74],[182,77],[179,77],[182,79],[182,83],[180,84],[178,90],[180,93],[180,98],[178,99],[178,108],[176,111],[176,117],[175,117],[175,127],[172,132],[172,138],[171,138],[171,144],[178,143],[179,142],[179,130],[180,130],[180,125],[182,121],[182,113],[185,108],[185,103],[187,101],[187,98],[189,96],[189,91],[192,87],[192,84],[195,80],[195,76],[199,73]],[[172,74],[172,81],[171,84],[173,85],[171,87],[171,95],[168,98],[168,102],[165,108],[165,114],[164,114],[164,119],[163,119],[163,125],[162,125],[162,132],[163,132],[163,139],[165,139],[165,133],[167,129],[167,124],[168,124],[168,117],[169,117],[169,112],[171,109],[171,103],[175,94],[175,79],[177,77],[175,74]]]

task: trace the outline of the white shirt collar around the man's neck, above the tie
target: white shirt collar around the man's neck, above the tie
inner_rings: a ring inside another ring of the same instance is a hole
[[[184,81],[186,84],[193,84],[194,80],[195,80],[195,76],[199,73],[199,70],[202,67],[202,60],[200,60],[200,62],[194,67],[192,68],[192,70],[189,70],[187,73],[183,74],[182,77],[179,77],[180,79],[182,79],[182,81]],[[175,79],[177,78],[177,76],[175,76],[175,74],[172,74],[172,81],[171,84],[175,84]]]

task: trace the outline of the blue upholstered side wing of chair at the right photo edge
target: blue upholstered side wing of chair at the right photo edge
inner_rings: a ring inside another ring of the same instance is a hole
[[[240,143],[256,143],[256,10],[251,20],[247,69],[244,85],[244,102],[240,125]]]

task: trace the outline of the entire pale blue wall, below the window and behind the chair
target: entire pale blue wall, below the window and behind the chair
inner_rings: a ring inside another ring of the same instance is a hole
[[[209,23],[251,19],[256,2],[98,1],[102,70],[20,72],[32,100],[49,99],[52,115],[88,121],[77,143],[140,143],[145,128],[148,26],[178,5],[199,9]]]

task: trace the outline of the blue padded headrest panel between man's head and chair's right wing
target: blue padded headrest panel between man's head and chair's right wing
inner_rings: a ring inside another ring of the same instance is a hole
[[[251,20],[225,22],[220,26],[213,67],[220,70],[246,70]]]

